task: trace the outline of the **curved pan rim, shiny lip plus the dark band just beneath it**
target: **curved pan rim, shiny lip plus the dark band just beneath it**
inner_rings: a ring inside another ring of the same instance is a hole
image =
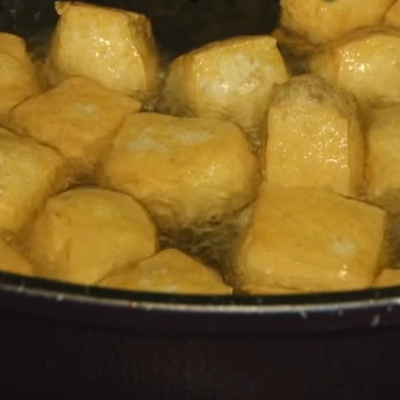
[[[88,287],[0,272],[0,312],[33,323],[151,334],[328,334],[400,325],[400,287],[306,295],[192,296]]]

